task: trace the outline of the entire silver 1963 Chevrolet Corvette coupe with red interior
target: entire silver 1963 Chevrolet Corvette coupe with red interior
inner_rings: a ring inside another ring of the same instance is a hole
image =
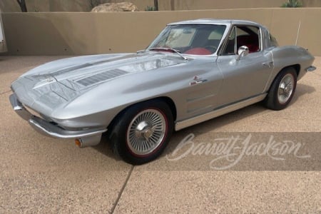
[[[168,24],[146,50],[45,63],[11,85],[14,111],[37,131],[95,146],[102,133],[125,161],[157,158],[178,131],[263,101],[281,110],[314,57],[278,46],[260,24]]]

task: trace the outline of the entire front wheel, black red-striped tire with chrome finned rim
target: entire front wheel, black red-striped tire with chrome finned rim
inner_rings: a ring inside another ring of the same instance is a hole
[[[167,146],[173,124],[173,113],[165,102],[135,104],[123,111],[111,127],[113,151],[133,165],[153,161]]]

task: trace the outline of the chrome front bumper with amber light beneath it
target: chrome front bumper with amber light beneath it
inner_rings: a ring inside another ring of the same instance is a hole
[[[92,128],[80,131],[66,130],[38,116],[32,115],[18,100],[15,93],[11,94],[9,99],[14,111],[16,111],[21,118],[28,121],[32,128],[46,136],[54,138],[76,138],[81,141],[81,147],[85,147],[96,146],[101,141],[101,133],[107,131],[106,128]]]

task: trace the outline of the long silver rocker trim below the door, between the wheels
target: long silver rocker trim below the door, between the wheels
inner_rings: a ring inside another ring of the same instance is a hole
[[[209,113],[205,113],[200,116],[195,116],[193,118],[189,118],[185,121],[179,121],[175,123],[175,131],[179,131],[183,128],[187,128],[188,126],[193,126],[198,123],[202,123],[204,121],[208,121],[212,118],[216,118],[218,116],[222,116],[225,113],[230,113],[232,111],[238,110],[240,108],[244,108],[245,106],[250,106],[254,103],[258,103],[260,101],[263,101],[263,99],[267,96],[267,93],[260,94],[258,96],[248,98],[244,101],[240,101],[238,103],[233,103],[229,106],[225,106],[219,109],[215,109]]]

